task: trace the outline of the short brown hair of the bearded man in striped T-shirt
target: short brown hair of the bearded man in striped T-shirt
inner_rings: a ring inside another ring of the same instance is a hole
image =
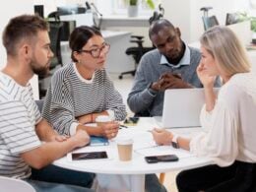
[[[48,31],[48,24],[37,15],[21,15],[7,24],[2,40],[8,55],[16,55],[16,46],[22,39],[32,39],[39,31]]]

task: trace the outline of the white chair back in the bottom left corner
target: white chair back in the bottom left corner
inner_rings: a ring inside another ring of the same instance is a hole
[[[0,176],[1,191],[10,192],[36,192],[35,189],[26,181]]]

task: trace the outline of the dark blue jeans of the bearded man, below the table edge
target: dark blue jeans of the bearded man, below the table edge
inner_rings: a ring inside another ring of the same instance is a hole
[[[74,187],[78,188],[91,188],[93,181],[95,178],[94,173],[89,172],[81,172],[76,170],[69,170],[66,168],[61,168],[55,165],[48,165],[41,169],[34,169],[32,168],[32,175],[29,179],[27,179],[28,182],[30,182],[32,185],[38,185],[38,187],[41,187],[41,189],[45,188],[45,182],[49,183],[53,188],[56,187],[56,185],[60,185],[59,187],[66,187],[70,188],[72,185]],[[32,181],[31,181],[32,180]],[[42,181],[42,182],[38,182]],[[34,187],[36,188],[36,187]],[[64,190],[64,188],[62,188]],[[40,189],[38,189],[39,191]],[[57,189],[55,188],[54,191]],[[78,189],[77,189],[78,190]],[[37,191],[37,190],[36,190]],[[46,189],[46,191],[49,191],[49,187]],[[72,190],[64,190],[64,191],[72,191]],[[89,190],[90,191],[90,190]]]

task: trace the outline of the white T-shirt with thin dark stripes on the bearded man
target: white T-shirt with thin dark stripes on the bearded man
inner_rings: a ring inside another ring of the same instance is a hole
[[[34,126],[41,120],[32,87],[22,87],[0,72],[0,175],[28,178],[30,166],[21,153],[40,146]]]

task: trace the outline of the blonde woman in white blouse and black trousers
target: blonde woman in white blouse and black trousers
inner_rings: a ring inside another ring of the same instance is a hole
[[[245,49],[229,29],[212,28],[200,42],[202,59],[197,74],[206,97],[201,124],[210,131],[185,139],[155,129],[154,139],[216,163],[179,173],[176,182],[180,192],[255,191],[256,77],[250,72]],[[219,75],[224,86],[217,97],[213,87]]]

